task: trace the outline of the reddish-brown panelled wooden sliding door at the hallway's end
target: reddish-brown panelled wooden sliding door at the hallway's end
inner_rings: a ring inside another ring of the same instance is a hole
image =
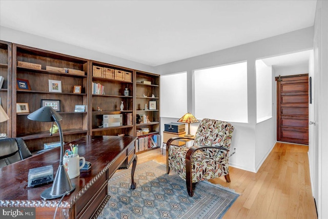
[[[277,80],[277,141],[309,144],[309,76]]]

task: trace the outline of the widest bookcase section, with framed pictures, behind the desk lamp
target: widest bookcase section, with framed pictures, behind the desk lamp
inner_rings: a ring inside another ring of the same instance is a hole
[[[18,66],[18,62],[37,64],[41,66],[41,69]],[[76,105],[88,105],[87,59],[13,44],[12,66],[12,78],[15,82],[12,88],[13,137],[22,137],[31,151],[43,149],[44,143],[59,141],[58,133],[50,136],[51,123],[31,121],[27,118],[28,114],[42,107],[42,102],[59,104],[56,111],[63,116],[60,125],[63,129],[64,142],[89,133],[87,112],[75,112]],[[47,66],[67,69],[67,73],[47,70]],[[73,73],[70,73],[70,69]],[[74,70],[79,70],[79,74],[76,74]],[[81,72],[84,73],[81,74]],[[28,82],[28,89],[19,88],[17,83],[20,79]],[[61,91],[59,92],[56,88],[50,90],[49,80],[60,82],[58,87]],[[74,86],[81,86],[81,92],[74,93]],[[17,103],[28,104],[28,112],[17,112]]]

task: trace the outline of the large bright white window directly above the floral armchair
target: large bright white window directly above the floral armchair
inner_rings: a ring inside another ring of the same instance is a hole
[[[247,62],[194,72],[195,115],[248,122]]]

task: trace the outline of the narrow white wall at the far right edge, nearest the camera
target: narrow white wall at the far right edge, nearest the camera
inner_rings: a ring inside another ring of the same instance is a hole
[[[314,22],[315,63],[315,138],[317,144],[311,149],[314,174],[314,191],[318,218],[328,218],[328,1],[317,1]],[[316,152],[317,150],[317,156]],[[312,169],[312,168],[311,168]]]

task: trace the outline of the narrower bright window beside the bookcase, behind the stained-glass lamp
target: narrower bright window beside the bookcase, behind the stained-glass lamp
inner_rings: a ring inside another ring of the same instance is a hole
[[[187,112],[187,72],[160,76],[160,116],[180,118]]]

